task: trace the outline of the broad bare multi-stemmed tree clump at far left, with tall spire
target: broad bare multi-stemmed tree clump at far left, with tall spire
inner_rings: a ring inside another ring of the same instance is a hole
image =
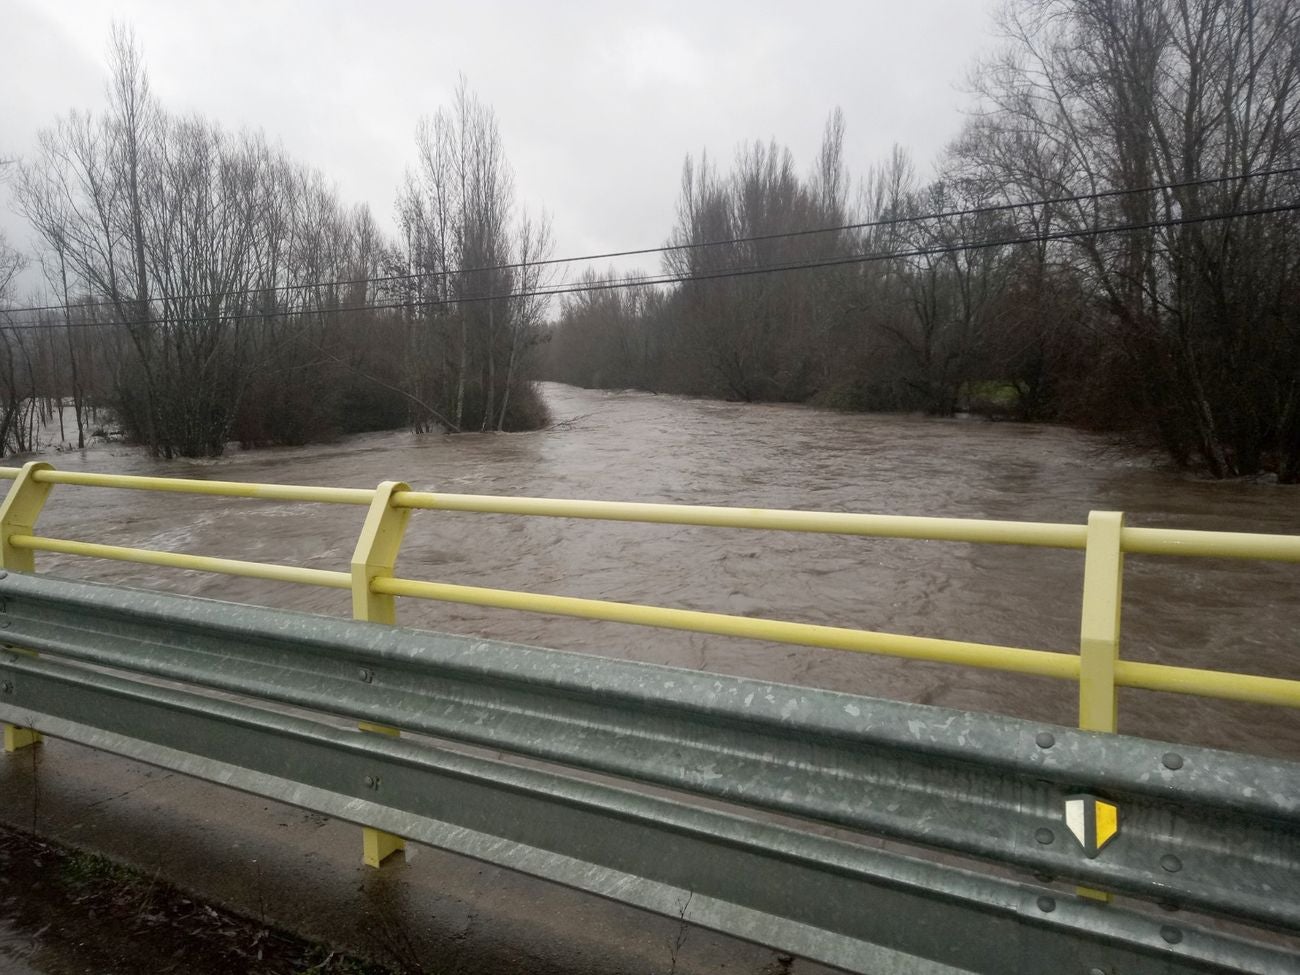
[[[124,429],[161,456],[199,456],[235,436],[302,442],[390,416],[396,377],[382,373],[396,363],[363,334],[385,324],[343,315],[372,295],[335,283],[377,273],[368,211],[261,135],[165,112],[129,31],[114,29],[109,61],[108,109],[40,134],[18,203],[65,317],[103,326]],[[82,430],[87,350],[70,328],[66,344]]]

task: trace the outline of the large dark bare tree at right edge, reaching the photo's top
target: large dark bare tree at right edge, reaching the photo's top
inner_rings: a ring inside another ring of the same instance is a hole
[[[1054,208],[1080,237],[1112,387],[1178,460],[1300,480],[1294,216],[1200,222],[1296,198],[1300,8],[1284,0],[1023,0],[976,73],[968,164],[1010,199],[1139,190]],[[1219,178],[1219,182],[1205,182]],[[1058,248],[1063,250],[1063,248]]]

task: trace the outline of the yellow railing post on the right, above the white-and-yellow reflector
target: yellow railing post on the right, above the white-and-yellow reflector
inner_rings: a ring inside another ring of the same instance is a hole
[[[1083,559],[1083,618],[1079,627],[1079,727],[1114,733],[1119,724],[1115,662],[1119,659],[1119,616],[1123,602],[1123,512],[1088,514],[1088,546]],[[1082,897],[1109,901],[1105,890],[1079,887]]]

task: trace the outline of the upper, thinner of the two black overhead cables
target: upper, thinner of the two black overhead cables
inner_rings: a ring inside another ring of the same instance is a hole
[[[326,287],[352,287],[352,286],[356,286],[356,285],[378,285],[378,283],[390,283],[390,282],[396,282],[396,281],[420,281],[420,280],[430,278],[430,277],[443,277],[443,278],[446,278],[446,277],[452,277],[452,276],[480,274],[480,273],[497,272],[497,270],[519,270],[519,269],[526,269],[526,268],[554,266],[554,265],[559,265],[559,264],[580,264],[580,263],[589,263],[589,261],[597,261],[597,260],[614,260],[614,259],[618,259],[618,257],[641,257],[641,256],[647,256],[647,255],[653,255],[653,254],[670,254],[670,252],[676,252],[676,251],[699,250],[699,248],[705,248],[705,247],[729,247],[729,246],[742,244],[742,243],[759,243],[759,242],[763,242],[763,240],[793,239],[793,238],[814,237],[814,235],[818,235],[818,234],[838,234],[838,233],[846,233],[846,231],[854,231],[854,230],[872,230],[872,229],[878,229],[878,228],[900,226],[900,225],[904,225],[904,224],[923,224],[923,222],[930,222],[930,221],[935,221],[935,220],[952,220],[952,218],[958,218],[958,217],[984,216],[984,214],[989,214],[989,213],[1005,213],[1005,212],[1009,212],[1009,211],[1028,209],[1028,208],[1034,208],[1034,207],[1052,207],[1052,205],[1067,204],[1067,203],[1089,203],[1089,202],[1098,202],[1098,200],[1104,200],[1104,199],[1114,199],[1114,198],[1118,198],[1118,196],[1132,196],[1132,195],[1144,194],[1144,192],[1164,192],[1164,191],[1169,191],[1169,190],[1190,188],[1190,187],[1193,187],[1193,186],[1213,186],[1213,185],[1226,183],[1226,182],[1240,182],[1240,181],[1247,181],[1247,179],[1264,179],[1264,178],[1270,178],[1270,177],[1277,177],[1277,176],[1292,176],[1292,174],[1296,174],[1296,173],[1300,173],[1300,166],[1290,166],[1290,168],[1284,168],[1284,169],[1265,169],[1265,170],[1257,170],[1257,172],[1253,172],[1253,173],[1238,173],[1238,174],[1232,174],[1232,176],[1206,177],[1204,179],[1186,179],[1186,181],[1182,181],[1182,182],[1156,183],[1156,185],[1152,185],[1152,186],[1144,186],[1144,187],[1138,187],[1138,188],[1131,188],[1131,190],[1100,190],[1100,191],[1089,192],[1089,194],[1075,194],[1075,195],[1070,195],[1070,196],[1054,196],[1054,198],[1045,198],[1045,199],[1039,199],[1039,200],[1023,200],[1023,202],[1018,202],[1018,203],[1000,203],[1000,204],[994,204],[994,205],[989,205],[989,207],[971,207],[971,208],[966,208],[966,209],[940,211],[940,212],[914,214],[914,216],[907,216],[907,217],[887,217],[887,218],[883,218],[883,220],[870,220],[870,221],[857,222],[857,224],[841,224],[841,225],[836,225],[836,226],[809,228],[809,229],[803,229],[803,230],[783,230],[783,231],[779,231],[779,233],[753,234],[753,235],[749,235],[749,237],[732,237],[732,238],[723,238],[723,239],[718,239],[718,240],[689,240],[689,242],[676,243],[676,244],[662,244],[659,247],[640,247],[640,248],[627,250],[627,251],[607,251],[604,254],[588,254],[588,255],[580,255],[580,256],[576,256],[576,257],[547,257],[545,260],[537,260],[537,261],[516,261],[516,263],[512,263],[512,264],[490,264],[490,265],[482,265],[482,266],[474,266],[474,268],[458,268],[455,270],[417,270],[417,272],[408,272],[408,273],[403,273],[403,274],[380,274],[380,276],[374,276],[374,277],[346,278],[346,280],[339,280],[339,281],[312,281],[312,282],[300,282],[300,283],[294,283],[294,285],[268,285],[265,287],[238,289],[238,290],[233,290],[233,291],[199,291],[199,292],[194,292],[194,294],[173,295],[173,296],[169,296],[169,298],[151,298],[151,299],[148,299],[148,302],[152,304],[152,303],[157,303],[157,302],[205,300],[205,299],[211,299],[211,298],[228,298],[228,296],[235,295],[235,294],[247,295],[247,296],[252,296],[252,295],[272,295],[272,294],[280,294],[280,292],[285,292],[285,291],[306,291],[306,290],[309,290],[309,289],[317,289],[318,290],[318,289],[326,289]],[[486,295],[486,296],[477,296],[477,298],[460,298],[460,299],[447,299],[447,300],[459,300],[459,302],[467,302],[467,300],[493,300],[493,298],[494,298],[493,295]],[[121,302],[114,302],[114,300],[77,302],[77,303],[68,303],[68,304],[26,306],[26,307],[20,307],[20,308],[10,308],[8,311],[12,312],[12,313],[61,312],[61,311],[66,311],[66,308],[69,308],[69,307],[75,307],[78,309],[87,309],[87,308],[116,308],[118,304],[136,304],[136,302],[134,299],[122,299]],[[307,312],[304,309],[303,313],[312,313],[312,315],[315,315],[315,313],[320,313],[320,312],[317,312],[317,311]],[[272,312],[268,312],[266,315],[272,315]],[[264,317],[264,316],[259,315],[259,316],[254,316],[254,317]],[[162,322],[165,320],[160,318],[160,320],[156,320],[156,321]],[[143,322],[120,322],[120,324],[143,324]]]

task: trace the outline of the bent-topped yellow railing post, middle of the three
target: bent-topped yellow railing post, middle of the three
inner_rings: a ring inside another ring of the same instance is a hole
[[[398,621],[396,598],[373,592],[370,582],[393,575],[398,550],[402,547],[402,537],[411,520],[411,508],[393,507],[393,494],[408,490],[411,490],[410,485],[402,481],[385,481],[374,491],[370,510],[365,514],[365,524],[361,526],[361,537],[358,538],[356,551],[352,552],[354,619],[387,624]],[[368,722],[363,722],[360,728],[376,734],[398,734],[396,728]],[[370,827],[363,827],[361,844],[363,859],[369,867],[380,866],[394,853],[406,848],[406,841],[400,836]]]

